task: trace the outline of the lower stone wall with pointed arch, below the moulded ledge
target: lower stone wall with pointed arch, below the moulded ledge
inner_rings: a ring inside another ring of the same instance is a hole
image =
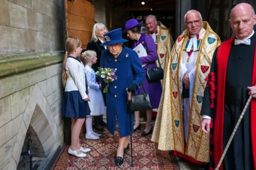
[[[49,160],[63,145],[61,66],[0,80],[0,169],[16,169],[29,127]]]

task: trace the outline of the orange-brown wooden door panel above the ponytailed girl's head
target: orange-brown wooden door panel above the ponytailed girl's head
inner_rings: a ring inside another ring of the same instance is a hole
[[[65,3],[67,37],[78,38],[85,49],[92,37],[94,5],[86,0],[66,0]]]

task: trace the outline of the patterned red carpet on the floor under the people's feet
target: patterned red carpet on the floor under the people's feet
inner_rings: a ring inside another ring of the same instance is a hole
[[[175,157],[169,151],[157,150],[157,145],[150,141],[151,135],[142,137],[140,131],[133,134],[133,168],[131,167],[131,149],[124,156],[124,164],[117,167],[114,164],[118,146],[118,133],[111,135],[107,130],[102,133],[99,140],[87,140],[80,137],[83,147],[92,151],[85,158],[76,158],[68,154],[69,146],[62,149],[58,161],[54,164],[54,170],[75,169],[175,169],[179,166]]]

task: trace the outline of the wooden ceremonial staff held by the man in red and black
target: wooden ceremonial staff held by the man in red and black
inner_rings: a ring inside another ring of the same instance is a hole
[[[240,115],[240,117],[239,117],[239,119],[238,119],[238,121],[237,121],[237,123],[236,123],[236,126],[235,126],[235,128],[234,128],[234,130],[233,130],[233,132],[232,132],[232,134],[231,134],[231,136],[230,136],[230,138],[229,138],[229,140],[228,140],[228,144],[226,145],[226,148],[225,148],[225,150],[224,150],[223,153],[222,153],[222,156],[221,156],[221,158],[220,158],[219,164],[217,165],[217,167],[216,167],[214,170],[219,170],[220,165],[221,165],[221,163],[222,163],[222,161],[223,161],[223,159],[224,159],[224,157],[225,157],[225,155],[226,155],[226,153],[227,153],[227,151],[228,151],[229,145],[230,145],[231,141],[233,140],[233,138],[234,138],[234,136],[235,136],[236,130],[237,130],[239,124],[241,123],[241,120],[243,119],[244,114],[245,114],[245,111],[246,111],[246,109],[248,108],[248,106],[249,106],[251,100],[252,100],[252,96],[250,96],[250,98],[247,100],[247,102],[246,102],[246,104],[245,104],[245,107],[244,107],[244,109],[243,109],[243,111],[242,111],[242,114]]]

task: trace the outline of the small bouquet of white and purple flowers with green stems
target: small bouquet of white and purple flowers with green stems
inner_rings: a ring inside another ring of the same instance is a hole
[[[114,80],[117,79],[117,76],[115,75],[115,70],[111,68],[101,68],[99,67],[99,70],[95,73],[97,76],[100,76],[103,81],[107,84],[113,83]],[[103,89],[103,93],[108,92],[108,86]]]

